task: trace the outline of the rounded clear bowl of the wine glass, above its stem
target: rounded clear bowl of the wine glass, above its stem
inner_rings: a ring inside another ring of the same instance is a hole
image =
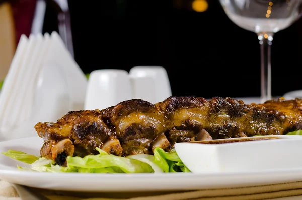
[[[276,33],[299,17],[300,0],[220,0],[226,15],[255,33]]]

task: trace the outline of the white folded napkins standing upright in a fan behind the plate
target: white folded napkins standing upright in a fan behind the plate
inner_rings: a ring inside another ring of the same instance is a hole
[[[0,141],[84,108],[87,78],[56,32],[22,35],[0,93]]]

